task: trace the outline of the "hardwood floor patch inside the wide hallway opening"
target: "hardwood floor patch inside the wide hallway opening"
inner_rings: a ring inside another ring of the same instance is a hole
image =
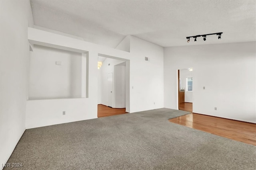
[[[125,108],[116,109],[116,108],[104,106],[102,104],[98,104],[98,117],[120,115],[120,114],[124,114],[124,113],[127,113],[127,112],[125,112]]]

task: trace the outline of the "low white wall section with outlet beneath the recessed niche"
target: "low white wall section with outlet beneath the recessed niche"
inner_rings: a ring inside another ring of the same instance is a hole
[[[97,118],[97,108],[90,104],[89,98],[28,100],[26,129]]]

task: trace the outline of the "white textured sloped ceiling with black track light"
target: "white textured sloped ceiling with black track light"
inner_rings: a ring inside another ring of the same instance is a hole
[[[34,24],[115,48],[126,35],[162,47],[256,41],[255,0],[30,0]],[[198,38],[187,36],[223,32]]]

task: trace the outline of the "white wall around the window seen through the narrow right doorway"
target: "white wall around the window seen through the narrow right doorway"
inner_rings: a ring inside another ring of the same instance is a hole
[[[193,102],[193,92],[186,90],[186,78],[193,77],[193,71],[189,71],[188,69],[180,69],[180,80],[181,86],[180,88],[185,90],[185,102],[192,103]]]

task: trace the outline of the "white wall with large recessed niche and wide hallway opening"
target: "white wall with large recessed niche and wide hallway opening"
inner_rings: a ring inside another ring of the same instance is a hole
[[[136,112],[163,107],[163,48],[131,36],[131,52],[112,49],[55,33],[28,28],[30,43],[70,51],[88,51],[88,98],[34,100],[27,102],[26,127],[40,127],[85,120],[97,117],[98,104],[98,55],[122,58],[126,61],[126,72],[130,72],[130,95],[126,95],[126,111]],[[145,63],[144,57],[150,57]],[[128,61],[127,61],[128,60]],[[130,67],[127,66],[130,64]],[[129,81],[126,81],[126,83]],[[133,84],[134,89],[132,89]],[[127,99],[130,97],[130,99]],[[68,102],[64,102],[68,101]],[[132,103],[131,103],[132,102]],[[155,104],[154,104],[155,102]],[[66,116],[62,111],[70,106]],[[47,112],[47,114],[42,114]],[[74,115],[72,120],[67,115]],[[61,115],[61,116],[60,116]],[[44,120],[44,121],[42,121]]]

